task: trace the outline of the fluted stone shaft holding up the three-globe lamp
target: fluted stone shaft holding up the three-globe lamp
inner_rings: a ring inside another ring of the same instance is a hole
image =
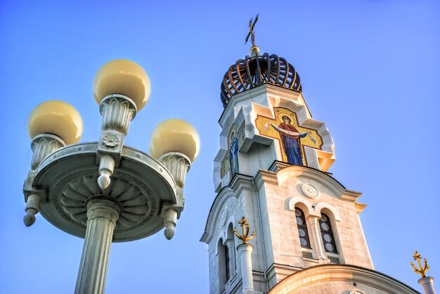
[[[88,200],[87,229],[75,293],[104,293],[108,257],[113,230],[119,217],[119,205],[110,197]]]

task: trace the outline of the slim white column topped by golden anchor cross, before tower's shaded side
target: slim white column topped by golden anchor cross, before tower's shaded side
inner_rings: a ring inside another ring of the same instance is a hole
[[[240,264],[241,264],[241,277],[242,277],[242,287],[243,293],[245,291],[253,291],[254,290],[254,278],[252,276],[252,260],[251,253],[254,246],[247,243],[255,236],[255,232],[252,231],[252,234],[249,236],[249,223],[246,221],[245,217],[242,217],[238,224],[242,227],[242,235],[237,233],[237,228],[234,228],[234,234],[242,243],[237,246],[238,255],[240,256]]]

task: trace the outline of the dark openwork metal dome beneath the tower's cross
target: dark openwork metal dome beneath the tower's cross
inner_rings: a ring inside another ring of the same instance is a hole
[[[301,80],[287,60],[275,54],[246,56],[231,65],[221,82],[221,102],[226,108],[232,96],[261,84],[273,84],[285,89],[302,91]]]

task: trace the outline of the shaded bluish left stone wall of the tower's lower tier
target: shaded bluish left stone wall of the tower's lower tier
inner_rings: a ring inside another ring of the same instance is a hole
[[[226,244],[228,239],[228,226],[231,224],[237,227],[238,232],[241,228],[238,221],[246,217],[251,226],[251,231],[255,231],[255,236],[249,243],[254,246],[252,250],[252,270],[254,271],[254,289],[267,293],[266,283],[264,282],[264,246],[263,236],[261,234],[261,225],[259,217],[259,207],[257,201],[257,191],[255,190],[252,177],[244,178],[237,175],[231,183],[231,188],[226,188],[217,196],[214,201],[210,218],[208,221],[208,230],[202,236],[202,241],[209,244],[209,279],[210,293],[219,293],[219,252],[217,245],[219,242]],[[237,237],[233,238],[233,252],[230,251],[231,267],[234,267],[231,279],[226,286],[226,293],[235,293],[241,289],[240,258],[238,258],[237,246],[241,241]],[[237,292],[238,293],[238,292]]]

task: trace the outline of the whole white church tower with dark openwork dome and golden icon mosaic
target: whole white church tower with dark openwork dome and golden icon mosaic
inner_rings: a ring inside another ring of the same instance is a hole
[[[221,82],[217,196],[200,239],[210,293],[417,293],[373,270],[361,193],[327,172],[335,162],[328,127],[312,118],[295,68],[259,53],[253,25],[250,56]],[[242,217],[255,232],[248,267],[233,232]]]

